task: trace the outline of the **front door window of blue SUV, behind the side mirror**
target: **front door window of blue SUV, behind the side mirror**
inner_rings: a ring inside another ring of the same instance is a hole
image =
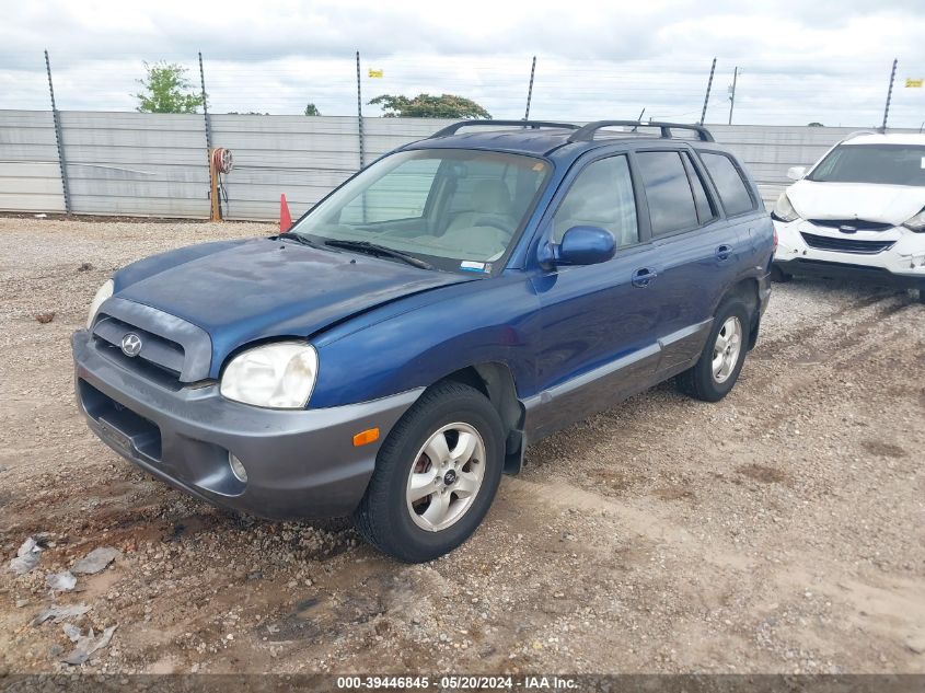
[[[636,198],[625,155],[599,159],[578,174],[553,217],[553,241],[562,243],[571,227],[600,227],[617,247],[639,242]]]

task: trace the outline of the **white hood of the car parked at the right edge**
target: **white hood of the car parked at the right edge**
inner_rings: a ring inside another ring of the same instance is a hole
[[[899,226],[925,207],[925,187],[797,181],[787,188],[802,219],[864,219]]]

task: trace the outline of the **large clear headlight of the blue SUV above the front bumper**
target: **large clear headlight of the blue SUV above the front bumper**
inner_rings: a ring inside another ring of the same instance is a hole
[[[276,409],[301,409],[317,374],[317,353],[304,342],[279,342],[231,359],[220,392],[229,400]]]

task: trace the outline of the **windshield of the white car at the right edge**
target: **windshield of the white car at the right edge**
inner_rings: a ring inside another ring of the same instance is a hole
[[[925,186],[925,147],[840,145],[816,166],[807,180]]]

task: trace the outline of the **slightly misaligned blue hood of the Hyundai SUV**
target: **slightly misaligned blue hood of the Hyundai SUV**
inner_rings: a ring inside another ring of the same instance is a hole
[[[311,336],[395,299],[472,280],[268,239],[181,249],[130,265],[115,279],[117,297],[208,332],[213,363],[248,342]]]

